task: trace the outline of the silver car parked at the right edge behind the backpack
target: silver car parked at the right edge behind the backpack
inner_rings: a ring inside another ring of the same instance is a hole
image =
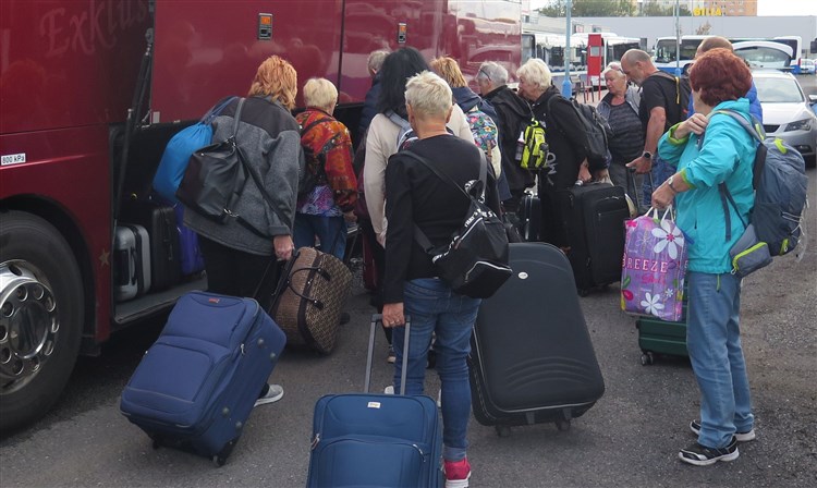
[[[810,105],[817,101],[817,96],[806,97],[791,73],[754,71],[752,76],[764,109],[766,136],[780,137],[803,155],[806,166],[815,166],[817,115]]]

